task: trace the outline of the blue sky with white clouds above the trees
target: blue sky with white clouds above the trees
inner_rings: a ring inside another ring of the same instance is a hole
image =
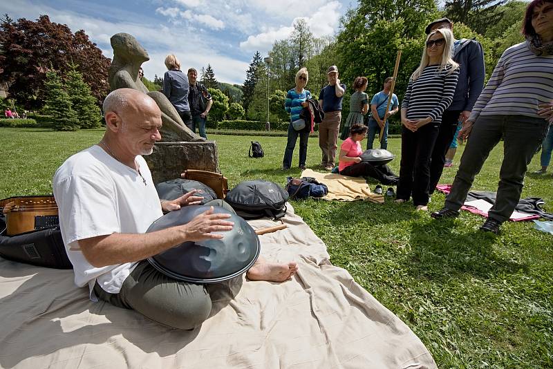
[[[84,29],[106,57],[111,35],[128,32],[148,50],[143,64],[149,79],[165,73],[169,53],[182,69],[211,64],[221,82],[242,84],[256,50],[264,56],[272,43],[285,39],[294,19],[304,18],[316,36],[333,35],[353,0],[137,0],[137,1],[0,1],[0,14],[37,19]]]

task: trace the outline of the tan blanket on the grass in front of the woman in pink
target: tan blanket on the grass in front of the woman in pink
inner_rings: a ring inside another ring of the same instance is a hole
[[[323,200],[369,200],[384,203],[384,196],[377,195],[368,187],[367,181],[362,177],[342,176],[341,174],[319,173],[306,169],[301,172],[302,177],[313,177],[328,187],[328,194]]]

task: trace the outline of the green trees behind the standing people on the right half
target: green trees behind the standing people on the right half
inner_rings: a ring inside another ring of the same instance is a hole
[[[525,1],[452,0],[438,10],[433,0],[359,0],[357,8],[341,18],[337,34],[326,38],[313,37],[308,24],[299,19],[290,37],[272,45],[269,70],[259,52],[252,57],[242,86],[245,115],[251,120],[265,120],[269,79],[271,119],[287,120],[281,106],[285,91],[294,87],[297,70],[308,68],[307,88],[317,97],[327,83],[326,69],[334,64],[348,86],[343,105],[343,116],[347,116],[353,79],[367,77],[369,95],[381,91],[384,79],[393,72],[398,49],[402,49],[402,60],[395,93],[401,99],[411,73],[420,63],[424,28],[440,17],[453,21],[457,39],[480,41],[489,77],[503,51],[523,41],[526,6]]]

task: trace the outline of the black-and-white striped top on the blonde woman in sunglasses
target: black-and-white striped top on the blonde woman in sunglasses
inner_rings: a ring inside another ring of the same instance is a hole
[[[449,75],[451,65],[447,65],[440,72],[438,68],[438,65],[427,66],[415,81],[409,79],[402,102],[402,108],[407,108],[408,119],[431,117],[435,124],[442,122],[442,113],[453,101],[459,68]]]

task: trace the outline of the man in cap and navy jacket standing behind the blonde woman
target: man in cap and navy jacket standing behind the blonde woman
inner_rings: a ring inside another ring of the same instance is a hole
[[[453,30],[453,23],[441,18],[430,23],[426,28],[427,35],[438,28]],[[482,45],[476,39],[456,39],[453,43],[453,60],[459,63],[459,81],[453,95],[453,102],[442,115],[440,133],[434,144],[430,164],[429,193],[433,193],[444,169],[445,155],[458,124],[465,122],[478,96],[484,88],[485,66]]]

